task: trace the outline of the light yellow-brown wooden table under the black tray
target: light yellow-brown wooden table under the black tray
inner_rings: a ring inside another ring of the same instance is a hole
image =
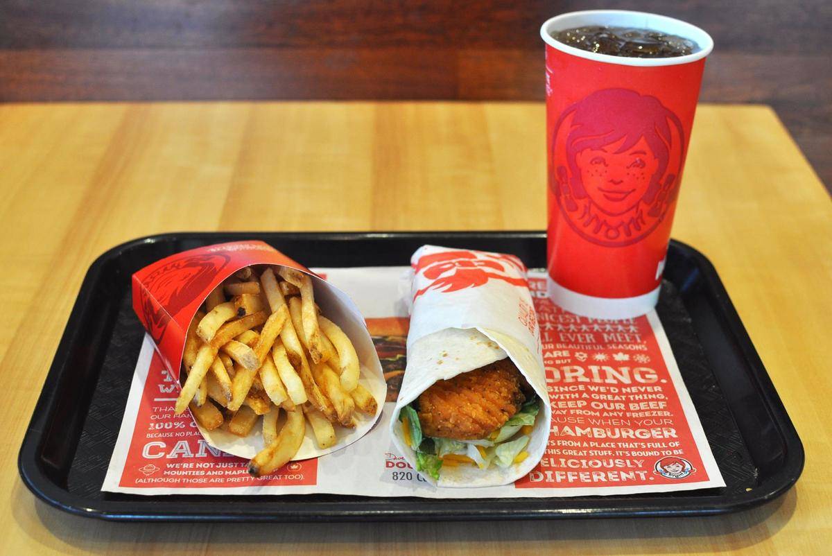
[[[706,253],[806,449],[796,487],[705,519],[111,524],[63,514],[17,449],[87,267],[181,230],[545,226],[537,103],[0,106],[0,539],[9,554],[820,553],[832,545],[832,204],[774,112],[700,108],[673,236]]]

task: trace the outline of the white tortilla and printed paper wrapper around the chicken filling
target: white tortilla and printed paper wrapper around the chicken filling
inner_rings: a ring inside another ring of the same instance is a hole
[[[513,256],[437,246],[420,247],[411,258],[411,265],[414,303],[408,364],[390,419],[393,442],[415,468],[416,454],[404,441],[399,411],[434,382],[508,356],[543,400],[526,448],[528,457],[506,469],[495,464],[488,469],[472,465],[446,467],[439,474],[438,486],[509,484],[531,471],[542,458],[552,418],[526,268]],[[427,474],[423,478],[437,484]]]

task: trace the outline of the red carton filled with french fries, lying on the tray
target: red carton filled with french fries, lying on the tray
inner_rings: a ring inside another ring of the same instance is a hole
[[[386,386],[358,308],[262,241],[205,246],[133,275],[133,308],[206,442],[270,474],[352,444]]]

